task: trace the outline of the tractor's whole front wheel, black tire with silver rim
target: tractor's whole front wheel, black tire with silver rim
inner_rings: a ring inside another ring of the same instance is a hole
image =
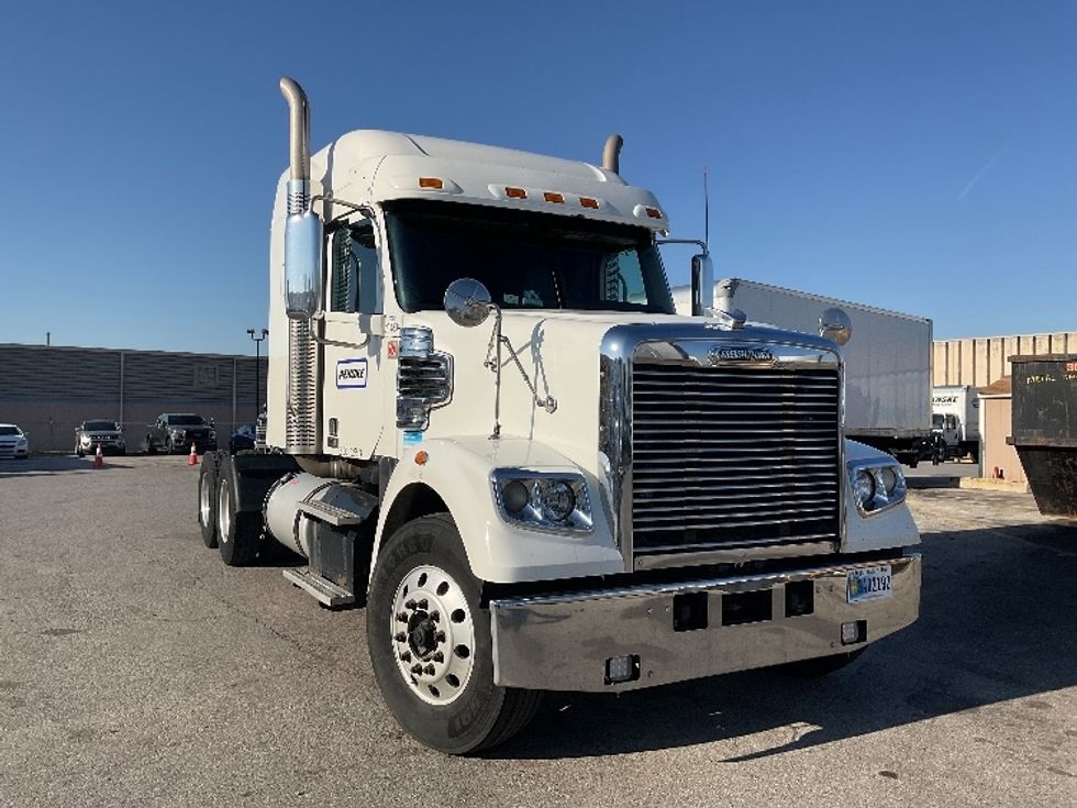
[[[447,513],[404,524],[378,556],[367,649],[392,715],[449,754],[495,746],[534,716],[541,693],[493,683],[489,611]]]

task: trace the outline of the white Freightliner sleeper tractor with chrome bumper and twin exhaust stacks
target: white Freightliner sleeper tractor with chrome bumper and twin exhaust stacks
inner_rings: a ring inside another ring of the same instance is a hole
[[[917,619],[900,467],[842,433],[843,312],[715,311],[703,251],[675,314],[617,136],[601,166],[379,131],[311,155],[281,91],[267,447],[207,455],[199,521],[365,605],[408,732],[473,752],[542,690],[823,672]]]

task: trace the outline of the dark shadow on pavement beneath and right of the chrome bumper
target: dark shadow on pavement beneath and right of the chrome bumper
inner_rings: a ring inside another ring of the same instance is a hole
[[[620,697],[549,694],[535,724],[486,756],[563,759],[722,742],[736,763],[1077,685],[1077,529],[923,535],[920,620],[819,679],[764,669]],[[1018,717],[1040,721],[1030,699]]]

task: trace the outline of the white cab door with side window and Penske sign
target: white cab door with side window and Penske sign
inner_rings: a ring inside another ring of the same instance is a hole
[[[374,223],[353,219],[326,236],[325,449],[344,457],[369,458],[382,430],[385,373],[382,337],[369,335],[369,316],[382,311],[381,273]],[[367,328],[360,325],[367,322]],[[362,347],[359,346],[362,345]]]

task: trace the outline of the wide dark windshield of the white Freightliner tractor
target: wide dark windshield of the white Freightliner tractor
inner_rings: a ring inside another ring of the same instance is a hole
[[[388,206],[387,224],[404,311],[443,309],[452,281],[476,278],[503,309],[674,313],[646,228],[425,200]]]

